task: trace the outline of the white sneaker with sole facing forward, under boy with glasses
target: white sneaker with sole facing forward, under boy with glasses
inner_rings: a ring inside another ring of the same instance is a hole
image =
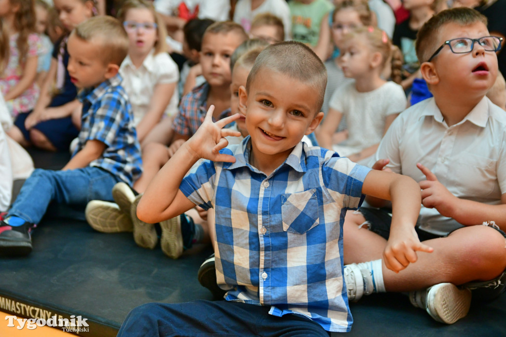
[[[471,306],[471,290],[452,283],[439,283],[425,290],[409,293],[411,304],[425,309],[436,321],[453,324],[466,317]]]

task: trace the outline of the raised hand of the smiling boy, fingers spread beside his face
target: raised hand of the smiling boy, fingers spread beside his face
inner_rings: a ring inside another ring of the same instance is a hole
[[[223,129],[225,125],[239,118],[236,113],[232,116],[213,122],[215,106],[211,105],[205,114],[204,122],[197,132],[185,143],[188,150],[196,159],[204,158],[212,161],[235,162],[235,157],[222,154],[219,151],[228,145],[227,136],[239,137],[238,131]]]

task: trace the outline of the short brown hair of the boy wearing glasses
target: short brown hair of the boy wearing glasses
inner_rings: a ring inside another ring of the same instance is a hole
[[[477,22],[487,26],[487,18],[477,10],[458,7],[441,11],[429,19],[416,34],[415,50],[420,63],[426,62],[440,43],[438,33],[448,23],[468,26]]]

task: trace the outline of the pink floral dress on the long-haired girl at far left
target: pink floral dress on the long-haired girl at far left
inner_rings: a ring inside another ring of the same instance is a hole
[[[9,63],[3,74],[0,76],[0,91],[6,95],[14,86],[17,85],[23,75],[23,66],[19,64],[19,50],[16,44],[18,33],[10,37],[10,57]],[[26,57],[39,56],[45,52],[42,40],[38,34],[28,35],[28,53]],[[15,118],[20,112],[32,110],[38,99],[40,89],[35,81],[17,98],[7,101],[7,107],[12,118]]]

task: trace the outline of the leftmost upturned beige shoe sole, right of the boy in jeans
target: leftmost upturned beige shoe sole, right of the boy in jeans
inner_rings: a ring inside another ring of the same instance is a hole
[[[132,232],[130,215],[124,214],[114,202],[92,200],[85,210],[86,220],[96,231],[102,233]]]

